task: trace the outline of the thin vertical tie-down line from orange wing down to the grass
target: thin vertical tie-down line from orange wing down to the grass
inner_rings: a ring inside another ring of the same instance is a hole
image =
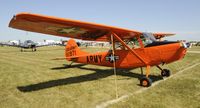
[[[113,55],[113,71],[115,75],[115,93],[116,98],[118,98],[118,86],[117,86],[117,72],[116,72],[116,62],[115,62],[115,42],[113,39],[113,34],[111,34],[111,41],[112,41],[112,55]]]

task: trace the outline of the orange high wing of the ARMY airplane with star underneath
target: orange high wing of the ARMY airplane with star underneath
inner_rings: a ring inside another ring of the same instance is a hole
[[[19,13],[15,15],[10,21],[9,27],[92,41],[110,41],[111,32],[116,33],[123,40],[142,34],[142,32],[135,30],[31,13]],[[153,33],[153,35],[159,39],[174,34]]]

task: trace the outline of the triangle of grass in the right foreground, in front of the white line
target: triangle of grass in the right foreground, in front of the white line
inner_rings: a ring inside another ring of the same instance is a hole
[[[200,108],[199,70],[196,66],[110,108]]]

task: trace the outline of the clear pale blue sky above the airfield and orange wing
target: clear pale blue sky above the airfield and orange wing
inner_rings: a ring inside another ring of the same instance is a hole
[[[0,0],[0,41],[65,40],[9,28],[20,12],[176,34],[167,40],[200,41],[200,0]]]

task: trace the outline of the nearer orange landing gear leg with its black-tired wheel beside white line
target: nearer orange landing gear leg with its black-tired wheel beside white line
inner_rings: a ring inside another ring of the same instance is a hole
[[[141,72],[142,72],[142,69],[141,69]],[[143,73],[143,72],[142,72]],[[143,76],[141,79],[140,79],[140,85],[143,86],[143,87],[149,87],[151,86],[152,84],[152,80],[149,78],[149,73],[150,73],[150,66],[147,65],[146,67],[146,75]]]

